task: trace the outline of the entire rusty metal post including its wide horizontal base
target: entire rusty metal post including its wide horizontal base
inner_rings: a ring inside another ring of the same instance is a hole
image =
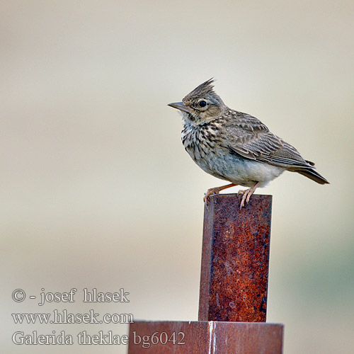
[[[205,207],[199,321],[135,321],[128,354],[282,354],[265,322],[272,197],[213,195]]]

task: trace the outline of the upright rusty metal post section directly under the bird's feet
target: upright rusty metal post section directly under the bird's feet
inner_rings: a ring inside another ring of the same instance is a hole
[[[265,321],[272,196],[240,202],[220,194],[205,206],[199,321]]]

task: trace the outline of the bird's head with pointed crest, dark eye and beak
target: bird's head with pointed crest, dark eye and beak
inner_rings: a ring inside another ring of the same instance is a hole
[[[196,124],[208,122],[222,115],[226,105],[213,90],[213,79],[203,82],[188,93],[182,102],[170,103],[169,106],[181,111],[183,119]]]

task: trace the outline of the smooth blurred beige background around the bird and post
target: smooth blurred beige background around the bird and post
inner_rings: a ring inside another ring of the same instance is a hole
[[[15,346],[14,331],[127,326],[14,312],[198,318],[202,195],[222,181],[184,151],[166,104],[212,76],[331,181],[285,173],[258,190],[274,195],[268,321],[285,324],[284,353],[353,353],[353,1],[11,0],[0,16],[3,353],[127,350]],[[11,300],[72,287],[74,304]],[[130,303],[83,304],[84,287],[124,287]]]

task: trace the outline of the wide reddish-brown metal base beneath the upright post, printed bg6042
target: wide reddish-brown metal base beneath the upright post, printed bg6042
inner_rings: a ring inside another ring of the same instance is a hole
[[[136,321],[130,324],[128,354],[281,354],[282,329],[264,323]]]

